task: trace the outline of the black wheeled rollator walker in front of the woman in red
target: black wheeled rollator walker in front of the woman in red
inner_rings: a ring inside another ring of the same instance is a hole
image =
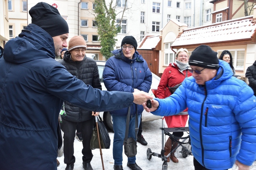
[[[155,89],[152,89],[153,94],[155,94]],[[181,112],[178,115],[185,115],[187,112]],[[147,159],[150,160],[153,156],[157,156],[162,159],[163,165],[162,165],[162,170],[167,170],[168,164],[167,164],[167,158],[175,152],[180,146],[182,147],[180,153],[184,158],[186,158],[188,155],[192,155],[191,152],[191,144],[190,144],[190,136],[186,137],[175,137],[173,136],[170,132],[187,132],[189,134],[189,128],[188,127],[183,127],[183,128],[165,128],[164,125],[164,118],[162,118],[162,149],[161,153],[155,153],[152,152],[150,148],[147,149]],[[165,135],[168,135],[172,141],[175,141],[178,143],[177,147],[172,148],[171,152],[165,156]],[[179,139],[182,139],[182,141],[179,141]],[[184,146],[184,144],[187,144],[187,147]]]

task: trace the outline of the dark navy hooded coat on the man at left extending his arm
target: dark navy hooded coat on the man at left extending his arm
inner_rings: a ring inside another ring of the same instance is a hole
[[[90,111],[128,107],[131,93],[86,86],[54,60],[53,38],[29,24],[0,58],[0,169],[56,169],[57,125],[63,103]]]

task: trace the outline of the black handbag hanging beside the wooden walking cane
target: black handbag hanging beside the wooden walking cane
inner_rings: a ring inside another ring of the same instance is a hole
[[[101,119],[100,116],[97,117],[98,119],[98,126],[99,126],[99,136],[100,136],[100,146],[101,149],[109,149],[110,148],[110,137],[109,133]],[[99,149],[99,140],[97,134],[97,127],[96,122],[94,123],[93,133],[91,133],[91,140],[90,140],[90,149]]]

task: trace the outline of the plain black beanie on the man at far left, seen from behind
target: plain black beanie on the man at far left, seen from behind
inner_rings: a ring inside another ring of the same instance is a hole
[[[61,17],[57,8],[45,2],[39,2],[29,10],[32,23],[41,27],[52,37],[69,33],[67,21]]]

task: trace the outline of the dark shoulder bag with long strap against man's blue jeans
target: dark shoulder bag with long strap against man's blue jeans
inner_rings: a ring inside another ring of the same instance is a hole
[[[134,140],[132,137],[128,138],[128,131],[129,131],[129,122],[130,122],[130,110],[131,107],[128,109],[128,114],[126,118],[126,130],[125,130],[125,139],[124,139],[124,150],[125,150],[125,155],[127,157],[133,157],[136,156],[137,154],[137,133],[138,133],[138,113],[136,111],[136,120],[135,120],[135,136],[136,140]],[[137,110],[137,109],[136,109]],[[127,139],[128,138],[128,139]]]

